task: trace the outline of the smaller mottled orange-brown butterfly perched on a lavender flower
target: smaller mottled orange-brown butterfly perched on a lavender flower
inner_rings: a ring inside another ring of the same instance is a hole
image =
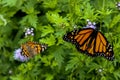
[[[34,55],[43,52],[47,48],[45,44],[39,44],[37,42],[28,41],[21,45],[21,54],[26,57],[33,57]]]

